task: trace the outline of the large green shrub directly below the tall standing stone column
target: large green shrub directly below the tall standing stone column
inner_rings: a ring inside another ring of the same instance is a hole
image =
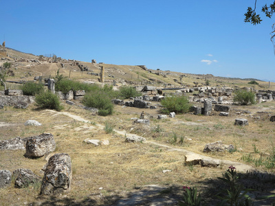
[[[108,93],[98,90],[86,93],[83,99],[85,106],[98,108],[98,115],[107,116],[113,113],[113,103]]]

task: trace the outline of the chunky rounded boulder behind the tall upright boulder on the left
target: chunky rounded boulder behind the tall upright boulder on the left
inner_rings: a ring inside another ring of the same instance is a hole
[[[55,149],[56,143],[54,141],[54,136],[50,133],[43,133],[28,139],[25,146],[25,156],[42,157],[47,153],[54,152]]]

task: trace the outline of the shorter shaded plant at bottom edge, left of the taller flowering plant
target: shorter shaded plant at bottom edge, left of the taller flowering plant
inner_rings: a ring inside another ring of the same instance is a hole
[[[184,186],[183,201],[179,202],[180,206],[199,206],[201,205],[201,194],[197,195],[197,187]]]

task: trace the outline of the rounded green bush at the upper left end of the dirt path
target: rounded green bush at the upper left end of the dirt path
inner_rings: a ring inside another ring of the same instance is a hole
[[[61,109],[63,109],[58,96],[50,91],[41,92],[36,95],[35,102],[40,108],[50,108],[55,109],[56,111],[61,111]]]

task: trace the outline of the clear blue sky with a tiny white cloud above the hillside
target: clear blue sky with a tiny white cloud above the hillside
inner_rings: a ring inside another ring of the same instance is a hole
[[[261,6],[273,1],[258,0]],[[214,76],[275,80],[273,19],[254,0],[0,0],[0,41],[21,52]]]

